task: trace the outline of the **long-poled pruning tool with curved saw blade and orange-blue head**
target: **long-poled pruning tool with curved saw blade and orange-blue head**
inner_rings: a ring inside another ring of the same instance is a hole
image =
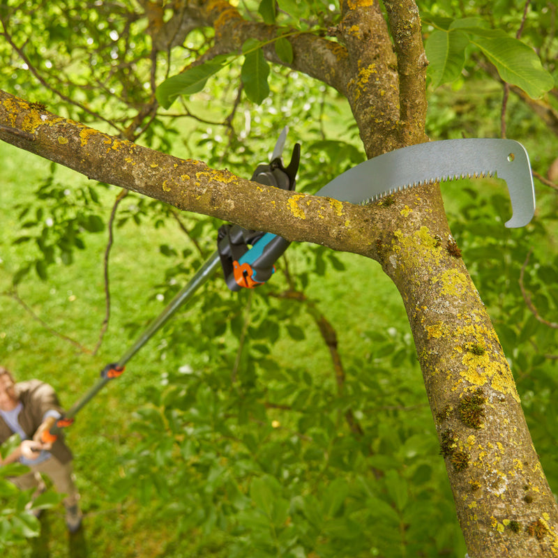
[[[281,156],[286,137],[287,128],[282,130],[270,162],[262,163],[255,169],[253,181],[283,190],[294,190],[301,148],[299,144],[294,146],[290,163],[285,167]],[[495,175],[506,181],[511,199],[512,217],[506,222],[506,227],[527,225],[535,211],[533,179],[527,151],[513,140],[442,140],[404,147],[352,167],[327,183],[316,195],[338,199],[340,202],[366,204],[425,183]],[[98,383],[52,428],[43,432],[42,441],[52,442],[56,439],[61,429],[73,422],[75,414],[107,382],[119,377],[126,363],[204,285],[219,264],[229,289],[238,291],[242,287],[256,287],[273,275],[275,262],[288,246],[289,241],[275,234],[244,229],[239,225],[220,227],[216,252],[147,326],[119,361],[103,368]]]

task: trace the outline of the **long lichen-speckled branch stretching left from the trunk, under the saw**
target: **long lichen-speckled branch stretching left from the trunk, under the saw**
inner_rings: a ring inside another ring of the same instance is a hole
[[[169,156],[101,133],[0,91],[0,126],[27,134],[2,139],[100,182],[160,199],[182,211],[194,211],[289,241],[310,241],[334,250],[376,257],[379,204],[357,206],[287,192],[235,176],[227,169]],[[324,223],[328,223],[324,227]]]

